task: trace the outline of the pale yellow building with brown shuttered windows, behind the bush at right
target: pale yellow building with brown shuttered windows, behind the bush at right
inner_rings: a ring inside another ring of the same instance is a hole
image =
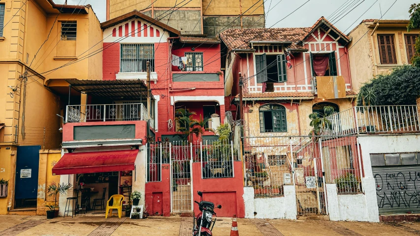
[[[374,76],[410,64],[420,30],[407,32],[408,20],[364,20],[349,36],[353,89]]]

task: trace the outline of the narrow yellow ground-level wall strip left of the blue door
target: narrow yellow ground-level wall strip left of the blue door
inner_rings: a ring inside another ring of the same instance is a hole
[[[0,179],[9,180],[8,195],[0,198],[0,215],[7,214],[7,207],[12,207],[15,179],[16,147],[0,145]]]

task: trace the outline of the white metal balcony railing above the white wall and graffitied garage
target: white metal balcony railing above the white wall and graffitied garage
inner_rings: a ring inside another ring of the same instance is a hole
[[[327,119],[331,123],[331,128],[324,131],[326,135],[420,131],[416,105],[356,106],[333,114]]]

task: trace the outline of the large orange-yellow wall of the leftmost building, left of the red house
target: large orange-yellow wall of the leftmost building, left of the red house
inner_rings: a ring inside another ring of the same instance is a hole
[[[74,14],[57,15],[58,10],[52,8],[47,0],[2,2],[5,3],[4,22],[10,22],[3,29],[4,40],[0,41],[0,107],[4,108],[0,109],[0,123],[6,126],[0,139],[3,142],[0,144],[3,145],[0,146],[0,165],[5,167],[0,168],[7,169],[6,172],[0,170],[0,178],[15,173],[15,156],[7,154],[10,150],[4,152],[6,145],[12,150],[16,145],[60,148],[61,118],[56,115],[61,113],[62,108],[60,94],[45,85],[64,79],[102,79],[101,52],[47,73],[102,47],[102,30],[91,8],[85,7],[88,14],[77,14],[76,9]],[[75,41],[61,41],[62,21],[77,22]],[[12,189],[14,176],[10,177],[9,191]],[[7,200],[0,198],[0,214],[6,214],[7,207],[13,207],[13,197],[9,196]]]

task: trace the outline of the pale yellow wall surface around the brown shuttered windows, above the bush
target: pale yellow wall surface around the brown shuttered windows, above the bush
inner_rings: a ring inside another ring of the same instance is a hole
[[[399,27],[379,27],[374,31],[376,24],[364,22],[353,29],[349,36],[353,37],[349,44],[350,70],[352,73],[353,90],[359,91],[363,83],[374,76],[389,73],[392,69],[407,64],[407,50],[404,34],[419,34],[420,30],[407,32],[407,28],[400,24]],[[366,33],[367,32],[367,33]],[[373,33],[373,34],[372,34]],[[382,65],[379,58],[378,34],[393,34],[395,44],[395,56],[397,63],[394,65]],[[361,39],[360,39],[361,38]]]

